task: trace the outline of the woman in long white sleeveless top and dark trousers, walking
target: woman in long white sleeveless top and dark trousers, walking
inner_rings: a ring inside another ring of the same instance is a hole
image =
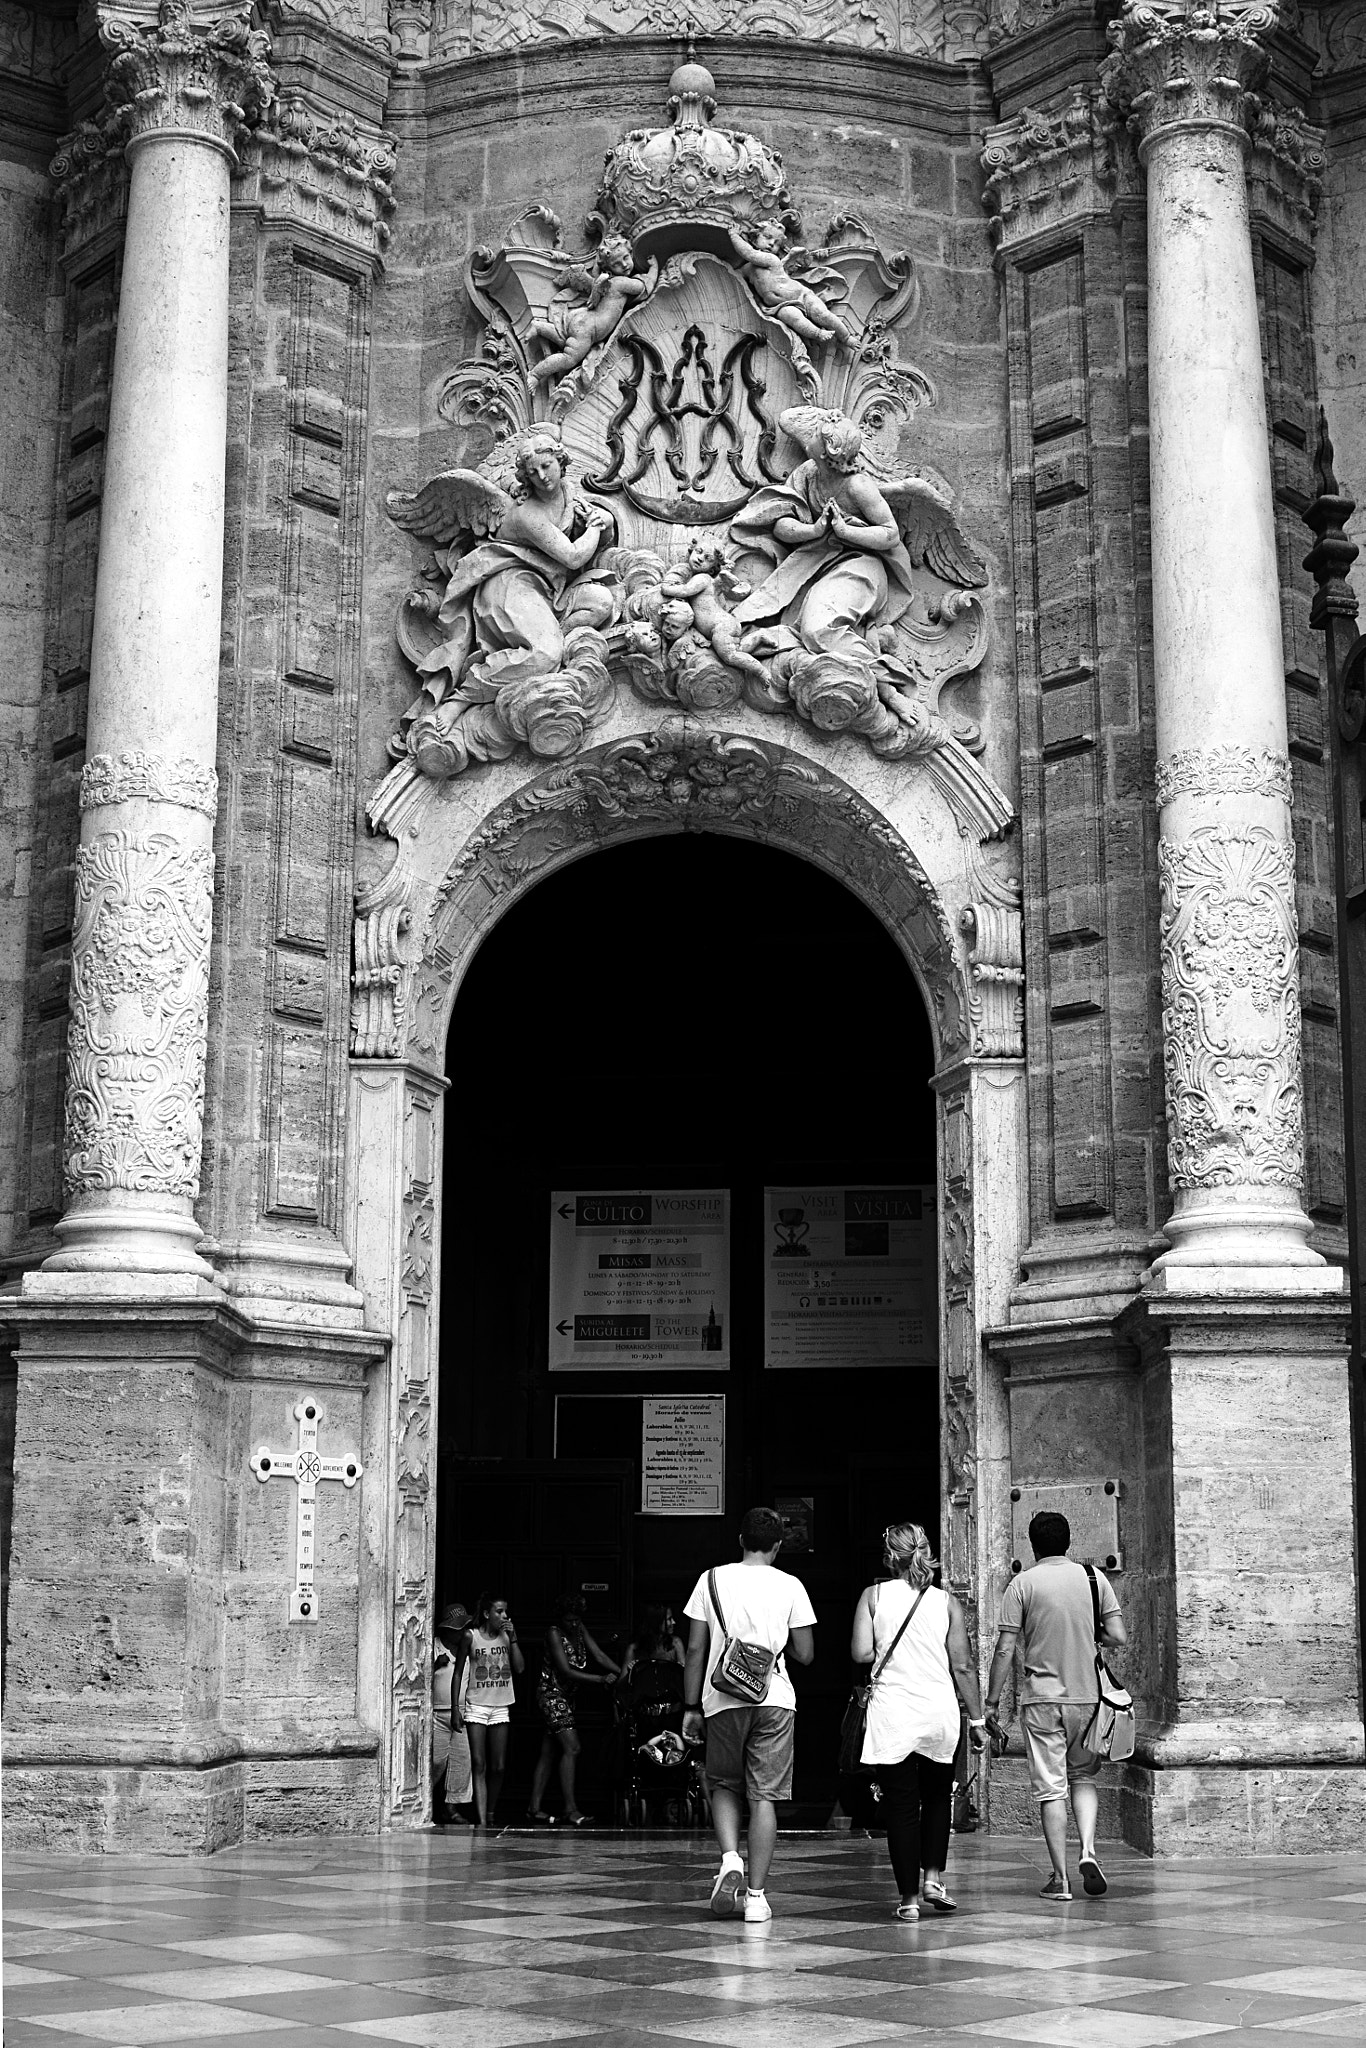
[[[934,1583],[936,1559],[920,1522],[895,1522],[883,1530],[883,1556],[893,1577],[858,1595],[850,1657],[870,1663],[877,1673],[862,1761],[877,1767],[883,1786],[887,1849],[901,1892],[897,1919],[913,1921],[920,1919],[922,1898],[936,1913],[956,1909],[944,1890],[944,1864],[958,1696],[971,1716],[973,1749],[985,1747],[987,1724],[963,1608]]]

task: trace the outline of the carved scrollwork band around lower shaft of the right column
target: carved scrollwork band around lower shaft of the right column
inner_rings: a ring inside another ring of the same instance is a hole
[[[1294,844],[1257,825],[1161,840],[1161,1036],[1173,1188],[1298,1188]]]

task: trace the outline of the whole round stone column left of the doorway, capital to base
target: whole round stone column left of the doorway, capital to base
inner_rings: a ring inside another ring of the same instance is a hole
[[[131,172],[66,1092],[68,1208],[45,1276],[195,1290],[213,926],[233,143],[270,98],[246,8],[207,33],[102,12]],[[37,1278],[37,1292],[68,1280]],[[31,1282],[33,1286],[33,1282]]]

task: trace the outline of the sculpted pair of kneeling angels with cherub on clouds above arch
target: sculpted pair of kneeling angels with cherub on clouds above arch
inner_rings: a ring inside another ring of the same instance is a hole
[[[408,600],[422,623],[399,637],[424,686],[393,752],[438,778],[518,741],[573,754],[614,674],[690,711],[795,711],[893,758],[971,741],[932,709],[938,690],[920,694],[961,672],[932,678],[932,649],[987,582],[950,498],[926,477],[877,481],[862,428],[834,408],[791,406],[778,426],[805,459],[752,494],[725,543],[694,532],[686,561],[616,545],[610,512],[567,479],[555,426],[524,434],[512,489],[449,469],[391,492],[389,514],[436,543],[444,575],[444,596]],[[952,588],[934,598],[917,569]]]

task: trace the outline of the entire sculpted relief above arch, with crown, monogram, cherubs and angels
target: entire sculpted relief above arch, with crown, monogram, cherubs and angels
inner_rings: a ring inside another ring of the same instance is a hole
[[[426,541],[397,641],[420,690],[371,805],[526,750],[575,754],[629,688],[915,758],[975,840],[1012,807],[942,692],[987,651],[987,565],[932,471],[893,473],[930,379],[895,328],[907,256],[819,242],[780,156],[717,127],[711,74],[608,152],[588,246],[549,207],[479,248],[483,342],[440,414],[475,451],[389,516]]]

